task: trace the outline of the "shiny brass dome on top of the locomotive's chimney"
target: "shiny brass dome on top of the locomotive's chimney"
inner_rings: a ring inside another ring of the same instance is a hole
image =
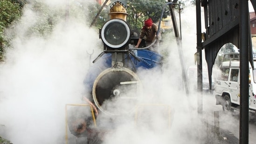
[[[126,21],[126,7],[120,1],[115,1],[110,7],[110,19],[122,19]]]

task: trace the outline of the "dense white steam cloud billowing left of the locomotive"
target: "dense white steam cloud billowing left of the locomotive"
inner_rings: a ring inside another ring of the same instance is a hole
[[[65,11],[63,0],[43,1],[49,9],[56,8],[52,14]],[[70,7],[72,3],[76,6],[70,0]],[[21,21],[7,30],[16,36],[0,65],[1,136],[14,144],[63,144],[65,104],[81,103],[88,54],[93,49],[92,57],[99,53],[100,39],[85,19],[72,15],[68,21],[58,19],[47,36],[31,34],[33,25],[47,19],[32,7],[28,4]]]

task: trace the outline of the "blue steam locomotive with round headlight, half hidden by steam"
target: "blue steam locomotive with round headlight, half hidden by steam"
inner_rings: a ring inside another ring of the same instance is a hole
[[[163,69],[163,56],[147,49],[151,46],[146,47],[142,41],[139,48],[134,48],[139,33],[126,22],[125,8],[122,2],[115,1],[110,8],[110,20],[99,30],[103,52],[93,61],[84,81],[89,96],[83,96],[85,104],[66,105],[66,141],[69,130],[76,137],[87,137],[88,143],[100,143],[104,130],[97,123],[99,115],[128,114],[131,108],[122,107],[122,103],[135,106],[143,85],[137,72]]]

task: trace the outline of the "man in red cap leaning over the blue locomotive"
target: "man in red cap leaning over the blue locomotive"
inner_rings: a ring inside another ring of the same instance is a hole
[[[158,27],[156,24],[153,23],[153,21],[149,18],[144,22],[144,27],[142,27],[141,32],[140,32],[140,36],[138,39],[138,43],[135,46],[135,48],[138,48],[140,42],[142,41],[142,39],[145,39],[145,44],[146,47],[151,45],[152,42],[155,40],[156,37],[156,33],[157,33]],[[156,48],[149,48],[152,51],[157,52]]]

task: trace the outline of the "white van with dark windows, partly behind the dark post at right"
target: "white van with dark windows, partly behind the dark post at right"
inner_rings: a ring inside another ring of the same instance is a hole
[[[240,105],[240,61],[232,58],[222,62],[215,81],[216,105],[225,110],[239,110]],[[254,62],[256,66],[256,62]],[[256,110],[256,70],[249,64],[249,109]]]

